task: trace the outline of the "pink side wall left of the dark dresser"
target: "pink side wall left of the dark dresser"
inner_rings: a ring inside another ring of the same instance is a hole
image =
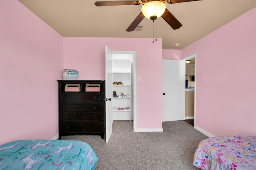
[[[16,0],[0,1],[0,144],[58,134],[63,37]]]

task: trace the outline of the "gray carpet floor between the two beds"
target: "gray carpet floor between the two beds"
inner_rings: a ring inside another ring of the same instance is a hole
[[[97,135],[63,136],[88,143],[95,170],[199,170],[192,165],[200,141],[208,138],[185,121],[163,122],[163,132],[133,132],[130,121],[114,121],[108,143]]]

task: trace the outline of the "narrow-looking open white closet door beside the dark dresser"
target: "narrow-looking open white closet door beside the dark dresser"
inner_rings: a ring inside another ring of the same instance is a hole
[[[113,113],[112,113],[112,53],[110,49],[106,46],[106,85],[105,85],[105,96],[106,96],[106,143],[112,134],[112,123],[113,123]]]

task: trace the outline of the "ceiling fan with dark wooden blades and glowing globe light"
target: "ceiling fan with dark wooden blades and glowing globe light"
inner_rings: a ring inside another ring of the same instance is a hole
[[[190,1],[197,1],[197,0],[117,0],[117,1],[97,1],[95,2],[96,6],[118,6],[118,5],[140,5],[143,4],[142,6],[142,12],[135,18],[135,20],[131,23],[131,25],[126,29],[126,31],[134,31],[136,27],[139,25],[139,23],[145,18],[145,12],[144,12],[144,6],[148,6],[150,3],[158,3],[159,5],[162,6],[165,2],[168,4],[175,4],[175,3],[180,3],[180,2],[190,2]],[[159,3],[160,2],[160,3]],[[159,16],[146,16],[146,18],[149,18],[151,20],[156,20],[158,17],[162,17],[171,27],[172,29],[178,29],[182,26],[180,21],[178,21],[172,13],[166,8],[165,4],[162,14]],[[152,10],[151,10],[152,11]]]

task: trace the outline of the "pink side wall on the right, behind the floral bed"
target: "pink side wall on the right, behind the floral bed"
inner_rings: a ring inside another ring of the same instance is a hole
[[[213,136],[256,135],[255,30],[256,8],[182,49],[196,53],[196,127]]]

